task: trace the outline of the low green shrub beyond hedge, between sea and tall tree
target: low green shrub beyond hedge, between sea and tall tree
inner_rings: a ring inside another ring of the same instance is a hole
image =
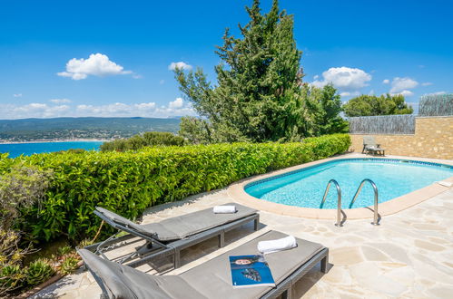
[[[125,151],[137,150],[152,146],[182,146],[184,139],[170,132],[146,132],[143,135],[135,135],[127,140],[113,140],[101,145],[102,151]]]

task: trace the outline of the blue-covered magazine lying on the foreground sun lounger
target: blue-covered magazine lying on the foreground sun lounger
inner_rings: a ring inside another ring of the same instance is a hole
[[[233,287],[275,286],[264,256],[230,256]]]

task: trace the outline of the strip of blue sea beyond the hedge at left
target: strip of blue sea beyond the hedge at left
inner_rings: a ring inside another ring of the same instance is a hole
[[[103,141],[54,141],[27,143],[0,143],[0,153],[9,152],[9,158],[20,155],[30,156],[42,152],[53,152],[67,149],[99,150]]]

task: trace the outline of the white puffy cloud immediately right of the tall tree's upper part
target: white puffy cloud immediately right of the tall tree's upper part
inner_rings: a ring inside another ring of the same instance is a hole
[[[311,82],[316,87],[322,87],[330,82],[341,92],[359,92],[362,87],[368,86],[371,75],[357,68],[346,66],[332,67],[326,72],[322,72],[323,80]]]

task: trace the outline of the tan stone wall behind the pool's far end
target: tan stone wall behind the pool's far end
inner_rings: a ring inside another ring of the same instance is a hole
[[[410,135],[350,134],[351,150],[362,150],[363,136],[373,136],[389,155],[453,159],[453,116],[417,117]]]

